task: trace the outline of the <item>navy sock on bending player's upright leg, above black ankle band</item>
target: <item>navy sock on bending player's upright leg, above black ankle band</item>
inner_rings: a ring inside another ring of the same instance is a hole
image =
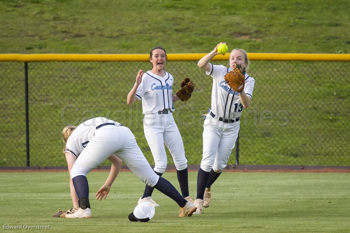
[[[85,210],[90,207],[89,202],[89,183],[86,176],[80,175],[72,178],[74,189],[78,195],[79,207]]]

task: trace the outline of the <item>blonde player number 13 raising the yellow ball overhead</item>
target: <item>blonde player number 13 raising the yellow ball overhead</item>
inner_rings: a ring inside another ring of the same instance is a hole
[[[213,78],[213,87],[211,110],[205,116],[203,126],[203,158],[198,171],[197,198],[194,202],[197,207],[196,214],[201,214],[203,207],[209,207],[210,187],[226,167],[231,151],[235,147],[240,115],[243,108],[250,105],[255,82],[246,73],[249,60],[247,52],[243,49],[231,51],[230,68],[209,63],[214,56],[219,54],[218,45],[209,54],[202,57],[197,64]],[[236,64],[239,64],[245,71],[245,86],[242,93],[233,91],[224,79],[224,76],[234,69]]]

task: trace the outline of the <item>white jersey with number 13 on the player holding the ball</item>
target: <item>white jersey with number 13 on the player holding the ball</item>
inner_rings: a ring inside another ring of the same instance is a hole
[[[224,65],[210,64],[210,71],[207,75],[213,78],[213,87],[211,91],[211,112],[218,117],[226,119],[235,119],[242,114],[243,105],[240,102],[239,94],[233,91],[226,84],[224,76],[231,71]],[[245,74],[244,92],[247,96],[253,97],[254,78]]]

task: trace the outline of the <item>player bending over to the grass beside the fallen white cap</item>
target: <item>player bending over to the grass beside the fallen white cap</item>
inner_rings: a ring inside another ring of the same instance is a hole
[[[91,218],[86,174],[107,158],[112,162],[111,172],[106,183],[97,191],[97,199],[107,197],[123,161],[141,181],[172,198],[181,207],[180,217],[191,216],[196,211],[194,204],[184,199],[169,181],[155,174],[129,128],[97,117],[84,121],[78,127],[64,127],[62,135],[70,182],[76,191],[72,199],[74,205],[79,205],[78,211],[66,214],[66,218]]]

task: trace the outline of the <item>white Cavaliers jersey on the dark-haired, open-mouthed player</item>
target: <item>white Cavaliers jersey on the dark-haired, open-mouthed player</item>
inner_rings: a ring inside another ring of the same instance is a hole
[[[170,73],[165,72],[165,76],[155,75],[147,71],[142,76],[141,84],[136,91],[136,98],[142,100],[142,113],[158,113],[164,109],[173,112],[173,83],[174,78]]]

